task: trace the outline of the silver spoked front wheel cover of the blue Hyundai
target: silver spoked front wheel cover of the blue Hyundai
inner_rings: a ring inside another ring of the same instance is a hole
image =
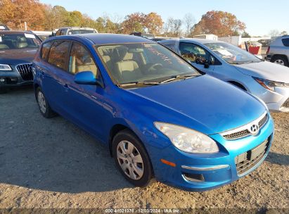
[[[120,141],[117,145],[117,160],[124,174],[132,180],[140,180],[143,177],[143,158],[131,142]]]

